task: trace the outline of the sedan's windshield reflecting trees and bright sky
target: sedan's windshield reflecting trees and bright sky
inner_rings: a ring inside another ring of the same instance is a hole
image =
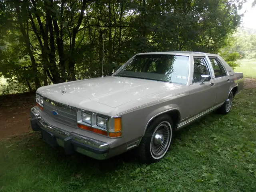
[[[168,54],[136,55],[114,76],[158,80],[186,84],[189,72],[188,56]]]

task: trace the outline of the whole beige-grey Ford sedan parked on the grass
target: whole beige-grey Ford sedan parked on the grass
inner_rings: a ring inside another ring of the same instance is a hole
[[[31,125],[67,154],[103,160],[136,148],[141,162],[156,162],[176,130],[230,112],[242,78],[216,54],[140,53],[112,76],[39,88]]]

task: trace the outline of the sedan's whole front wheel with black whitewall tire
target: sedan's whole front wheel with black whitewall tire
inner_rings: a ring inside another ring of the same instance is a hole
[[[139,161],[153,163],[162,159],[170,148],[173,123],[168,115],[161,115],[148,126],[137,148]]]

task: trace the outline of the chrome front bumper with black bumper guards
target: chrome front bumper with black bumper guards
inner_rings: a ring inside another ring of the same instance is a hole
[[[51,126],[40,116],[37,106],[30,110],[30,115],[32,130],[41,131],[42,138],[51,146],[62,146],[66,154],[76,151],[99,160],[107,158],[108,143]]]

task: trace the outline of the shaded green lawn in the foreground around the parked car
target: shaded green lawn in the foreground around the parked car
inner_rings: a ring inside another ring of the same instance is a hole
[[[140,165],[134,152],[98,161],[51,148],[31,133],[0,141],[0,191],[256,191],[256,90],[228,115],[209,114],[177,132],[166,157]]]

